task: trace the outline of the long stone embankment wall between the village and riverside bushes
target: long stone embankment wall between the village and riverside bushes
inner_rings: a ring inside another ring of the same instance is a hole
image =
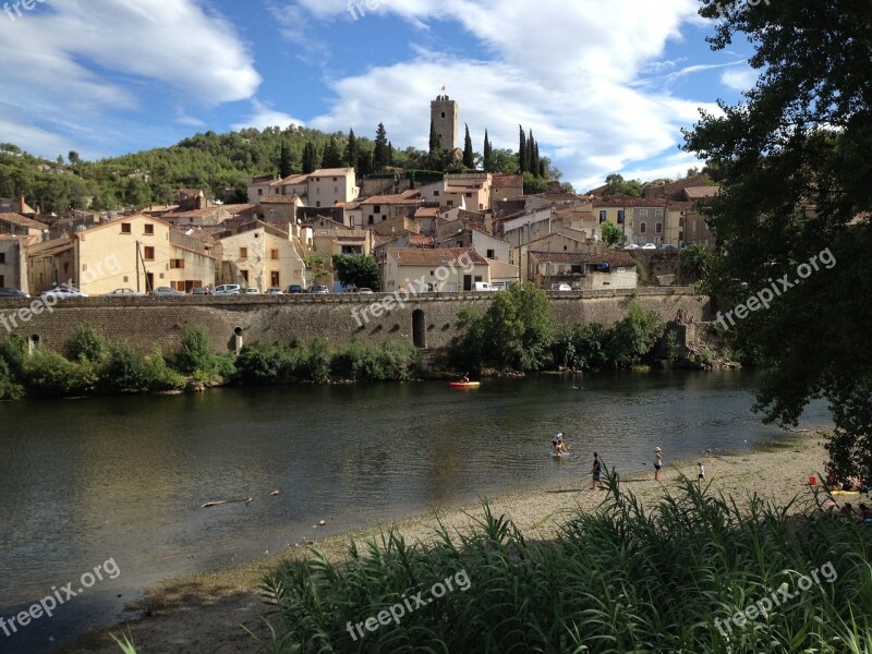
[[[457,314],[463,306],[472,304],[484,312],[493,298],[491,293],[426,293],[368,322],[360,317],[363,308],[388,296],[376,293],[69,298],[51,307],[39,299],[0,299],[0,339],[7,334],[20,334],[38,341],[41,347],[60,350],[76,326],[87,323],[110,339],[125,340],[140,350],[148,351],[159,344],[169,351],[178,347],[185,328],[201,325],[219,351],[233,349],[235,331],[242,334],[244,342],[289,342],[294,338],[371,343],[400,340],[419,347],[441,348],[457,334]],[[688,288],[565,292],[549,293],[549,296],[560,325],[610,325],[627,314],[633,298],[666,320],[675,318],[680,308],[697,322],[711,317],[708,299]],[[41,312],[33,315],[31,308],[41,308]]]

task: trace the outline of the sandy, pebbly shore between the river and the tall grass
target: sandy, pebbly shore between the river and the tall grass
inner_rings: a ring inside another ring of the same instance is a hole
[[[702,459],[711,491],[732,496],[740,505],[752,493],[779,505],[798,494],[803,499],[810,498],[808,477],[822,473],[825,460],[821,434],[791,435],[779,446],[753,455],[706,455]],[[511,518],[529,538],[552,538],[558,525],[578,507],[593,510],[606,498],[603,491],[589,489],[591,476],[586,474],[588,470],[588,462],[579,464],[579,481],[572,486],[493,498],[489,500],[492,510]],[[652,470],[628,475],[621,483],[626,484],[626,491],[650,506],[665,493],[678,488],[682,475],[695,480],[695,460],[667,465],[661,472],[659,482],[654,482]],[[437,526],[437,518],[449,530],[462,530],[481,516],[482,507],[473,505],[408,519],[396,526],[408,542],[427,541]],[[385,525],[374,525],[318,541],[316,546],[330,559],[342,560],[351,538],[378,535],[385,529]],[[109,633],[120,633],[128,627],[141,653],[259,652],[257,643],[242,627],[259,637],[267,633],[263,618],[267,616],[268,607],[261,602],[257,585],[263,576],[282,560],[300,559],[307,553],[306,548],[291,548],[241,568],[159,584],[148,590],[145,601],[131,607],[129,623],[88,634],[59,652],[118,654],[120,650]]]

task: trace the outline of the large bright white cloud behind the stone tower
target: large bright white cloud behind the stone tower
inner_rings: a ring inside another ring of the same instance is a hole
[[[299,0],[294,7],[314,20],[352,20],[346,0]],[[336,94],[331,108],[310,124],[371,134],[384,121],[395,144],[425,148],[429,101],[446,83],[460,105],[460,145],[467,122],[477,152],[485,128],[494,147],[516,149],[521,123],[533,129],[542,154],[568,181],[594,185],[633,161],[673,156],[680,128],[698,118],[702,102],[644,80],[682,61],[663,61],[666,44],[681,38],[697,10],[697,0],[380,0],[377,13],[413,26],[458,23],[479,40],[480,53],[459,58],[419,48],[410,61],[328,80]],[[375,31],[380,19],[372,13],[355,28]],[[708,68],[687,65],[669,76]],[[675,169],[686,171],[686,162]]]

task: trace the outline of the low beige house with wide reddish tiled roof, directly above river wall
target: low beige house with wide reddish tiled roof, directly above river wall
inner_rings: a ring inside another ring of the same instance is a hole
[[[386,293],[471,291],[476,281],[491,283],[491,268],[468,247],[389,247],[382,262],[382,290]]]

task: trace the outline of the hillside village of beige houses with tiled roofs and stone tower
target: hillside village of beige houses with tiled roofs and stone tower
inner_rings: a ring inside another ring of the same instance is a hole
[[[445,149],[459,154],[458,104],[438,96],[431,119]],[[62,216],[40,214],[23,196],[0,198],[0,288],[92,296],[342,292],[332,262],[351,254],[377,262],[373,290],[383,292],[500,290],[516,281],[555,291],[634,289],[676,281],[675,274],[640,275],[640,253],[659,251],[676,270],[680,249],[714,244],[700,203],[718,186],[704,175],[645,184],[640,197],[608,185],[566,193],[557,183],[525,195],[521,174],[359,180],[352,167],[319,169],[252,178],[246,204],[180,189],[174,205]],[[613,246],[606,223],[620,230]],[[441,272],[461,256],[474,265]]]

